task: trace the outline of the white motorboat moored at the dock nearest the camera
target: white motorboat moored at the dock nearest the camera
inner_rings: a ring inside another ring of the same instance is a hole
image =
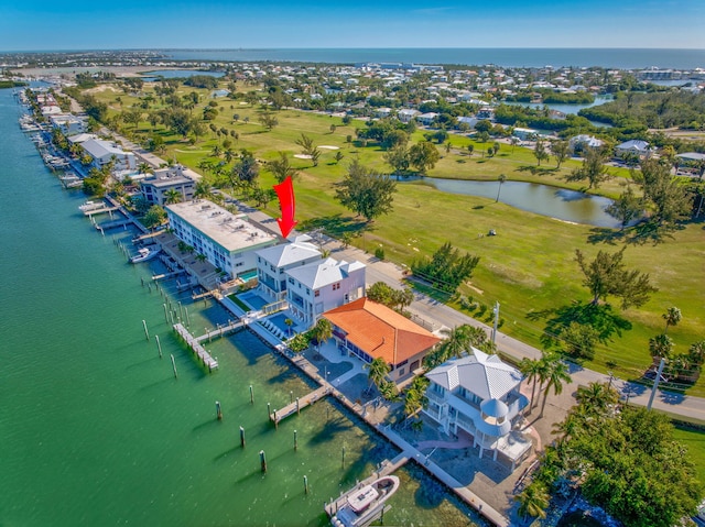
[[[333,527],[367,527],[384,510],[384,502],[399,488],[399,477],[384,475],[369,484],[357,484],[325,509]]]

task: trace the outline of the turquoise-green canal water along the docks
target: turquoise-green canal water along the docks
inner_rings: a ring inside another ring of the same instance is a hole
[[[0,525],[325,525],[323,502],[395,450],[327,400],[274,430],[267,403],[281,408],[310,386],[247,331],[206,344],[220,363],[206,373],[165,323],[166,299],[141,285],[151,271],[90,227],[85,196],[62,189],[17,117],[0,90]],[[187,294],[170,300],[196,333],[228,318]],[[475,525],[412,472],[388,525]]]

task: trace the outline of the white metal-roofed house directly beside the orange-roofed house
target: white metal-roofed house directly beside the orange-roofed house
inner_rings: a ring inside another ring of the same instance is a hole
[[[365,264],[328,257],[286,271],[289,309],[313,326],[325,311],[365,296]]]

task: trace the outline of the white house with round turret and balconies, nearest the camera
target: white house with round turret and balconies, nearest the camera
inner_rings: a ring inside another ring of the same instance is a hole
[[[498,355],[471,348],[471,354],[453,359],[426,373],[429,406],[423,411],[443,430],[465,430],[479,447],[501,452],[512,470],[530,450],[531,440],[513,430],[529,399],[520,393],[523,375]]]

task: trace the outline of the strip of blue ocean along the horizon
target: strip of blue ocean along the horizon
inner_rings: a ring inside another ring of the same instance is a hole
[[[705,50],[542,48],[542,47],[406,47],[406,48],[279,48],[166,50],[182,61],[311,62],[329,64],[413,63],[494,64],[507,67],[601,66],[619,69],[705,68]]]

